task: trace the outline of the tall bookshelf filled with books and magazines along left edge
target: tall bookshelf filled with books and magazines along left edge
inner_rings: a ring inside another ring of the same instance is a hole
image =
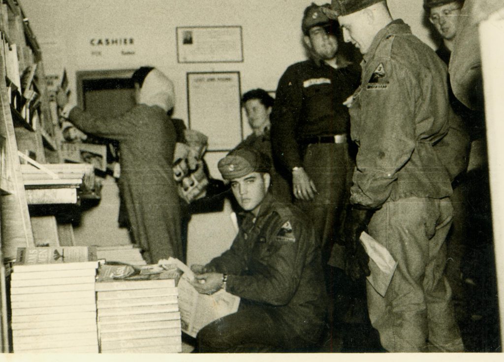
[[[78,191],[94,186],[91,165],[62,164],[55,102],[19,0],[0,1],[0,157],[0,339],[2,352],[11,352],[5,278],[17,249],[40,245],[40,238],[59,246],[61,235],[73,235],[71,224],[53,215],[30,216],[29,205],[76,204]]]

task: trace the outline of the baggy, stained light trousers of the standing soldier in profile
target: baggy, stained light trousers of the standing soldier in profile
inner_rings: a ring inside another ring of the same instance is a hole
[[[390,352],[464,350],[444,276],[452,210],[448,198],[405,198],[371,218],[369,234],[398,263],[385,297],[367,283],[369,318]]]

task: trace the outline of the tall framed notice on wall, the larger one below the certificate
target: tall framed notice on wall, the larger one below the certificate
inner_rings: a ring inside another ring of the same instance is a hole
[[[240,73],[187,73],[190,129],[208,136],[209,151],[227,151],[243,139]]]

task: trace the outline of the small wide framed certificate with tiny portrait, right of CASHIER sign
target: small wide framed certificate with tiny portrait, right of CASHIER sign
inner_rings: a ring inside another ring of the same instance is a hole
[[[243,62],[241,26],[177,27],[178,63]]]

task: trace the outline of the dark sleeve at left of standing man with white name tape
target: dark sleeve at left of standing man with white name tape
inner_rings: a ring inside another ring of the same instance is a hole
[[[289,171],[303,165],[296,141],[303,101],[302,89],[295,72],[287,69],[280,78],[276,91],[275,105],[271,114],[271,139],[273,154]]]

